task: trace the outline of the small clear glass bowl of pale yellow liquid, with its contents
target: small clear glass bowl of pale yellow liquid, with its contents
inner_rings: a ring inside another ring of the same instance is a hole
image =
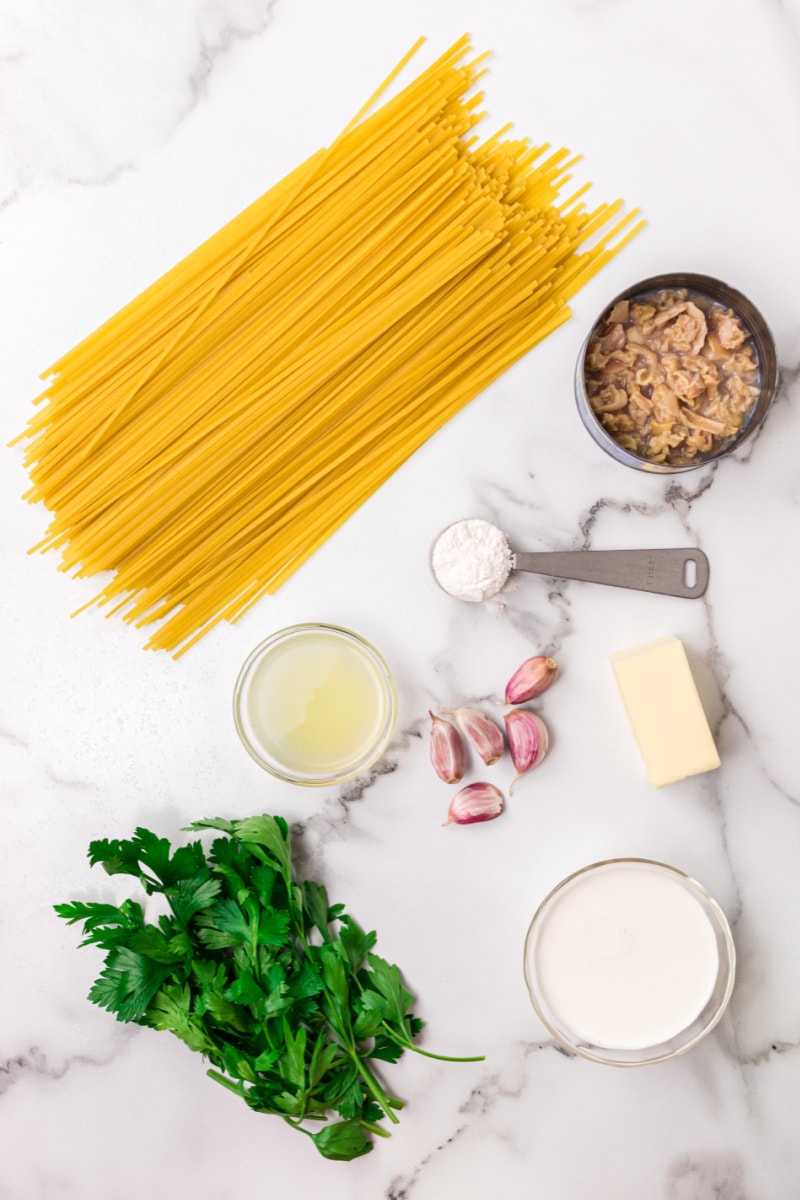
[[[248,754],[277,779],[324,787],[354,779],[389,745],[397,692],[389,666],[359,634],[291,625],[247,658],[234,722]]]

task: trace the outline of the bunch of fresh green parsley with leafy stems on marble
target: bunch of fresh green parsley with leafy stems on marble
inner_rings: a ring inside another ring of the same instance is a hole
[[[396,1124],[403,1106],[375,1060],[397,1062],[404,1050],[443,1057],[414,1045],[423,1022],[399,970],[372,953],[374,932],[329,905],[324,887],[295,880],[282,817],[188,828],[224,836],[207,856],[199,841],[173,853],[148,829],[91,842],[92,866],[136,876],[170,914],[148,924],[136,900],[55,906],[70,924],[83,922],[82,946],[106,950],[89,998],[119,1021],[170,1030],[212,1063],[211,1079],[283,1117],[326,1158],[365,1154],[368,1134],[387,1138],[378,1122]]]

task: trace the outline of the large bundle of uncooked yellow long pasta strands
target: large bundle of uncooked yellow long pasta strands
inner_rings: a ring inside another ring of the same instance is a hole
[[[414,48],[416,49],[416,47]],[[414,53],[414,52],[411,52]],[[479,143],[467,37],[43,377],[35,550],[182,653],[275,592],[636,233],[566,150]]]

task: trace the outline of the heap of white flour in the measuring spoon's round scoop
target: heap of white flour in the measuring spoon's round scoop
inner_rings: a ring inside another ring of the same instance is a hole
[[[488,600],[509,578],[512,565],[503,529],[477,517],[447,526],[431,551],[437,583],[457,600]]]

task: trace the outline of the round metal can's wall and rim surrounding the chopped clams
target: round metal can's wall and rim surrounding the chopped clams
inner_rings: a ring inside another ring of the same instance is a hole
[[[726,305],[726,307],[732,308],[735,316],[741,318],[752,337],[760,374],[758,398],[736,436],[721,442],[715,450],[705,455],[698,455],[690,463],[674,466],[663,462],[651,462],[649,458],[644,458],[621,446],[595,415],[589,402],[585,378],[587,350],[595,329],[602,322],[606,313],[610,312],[620,300],[632,300],[646,292],[660,292],[672,288],[688,288],[692,292],[699,292],[711,300],[716,300]],[[741,292],[729,287],[729,284],[723,283],[721,280],[715,280],[710,275],[692,275],[686,271],[672,275],[654,275],[651,278],[642,280],[640,283],[634,283],[632,287],[626,288],[625,292],[620,292],[619,295],[614,296],[603,307],[597,320],[593,323],[589,335],[581,347],[575,372],[575,395],[578,404],[578,414],[600,449],[626,467],[633,467],[636,470],[645,470],[656,475],[672,475],[685,470],[697,470],[699,467],[705,467],[710,462],[716,462],[718,458],[724,458],[726,455],[733,454],[734,450],[738,450],[753,436],[763,422],[772,403],[776,386],[777,358],[775,340],[758,308]]]

